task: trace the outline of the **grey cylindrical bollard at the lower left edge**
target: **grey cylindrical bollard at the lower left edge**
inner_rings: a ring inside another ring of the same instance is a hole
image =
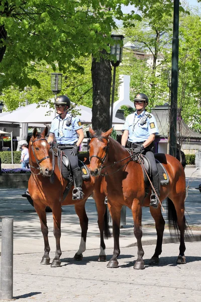
[[[2,219],[0,299],[13,299],[13,218]]]

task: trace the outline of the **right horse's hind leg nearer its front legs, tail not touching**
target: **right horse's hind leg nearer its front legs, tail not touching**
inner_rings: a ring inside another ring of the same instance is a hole
[[[151,257],[149,264],[159,264],[159,255],[162,253],[162,242],[163,242],[163,232],[165,227],[165,220],[161,213],[161,207],[158,206],[154,208],[150,206],[150,212],[155,220],[155,227],[157,233],[157,242],[154,255]]]

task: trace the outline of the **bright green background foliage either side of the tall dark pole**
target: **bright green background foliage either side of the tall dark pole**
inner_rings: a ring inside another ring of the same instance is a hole
[[[157,7],[157,5],[156,5]],[[131,75],[132,100],[139,91],[147,94],[150,107],[170,102],[172,18],[164,12],[161,19],[143,15],[142,22],[126,28],[127,41],[135,52],[145,54],[144,60],[136,59],[132,49],[124,50],[121,73]],[[201,68],[200,68],[200,13],[181,10],[179,22],[179,79],[178,108],[188,126],[201,132]],[[149,55],[153,64],[149,63]],[[196,109],[195,109],[196,108]]]

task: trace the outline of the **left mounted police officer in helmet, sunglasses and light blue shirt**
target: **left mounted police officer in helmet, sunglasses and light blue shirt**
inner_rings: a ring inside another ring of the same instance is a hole
[[[73,117],[68,113],[68,109],[70,108],[68,97],[59,96],[56,98],[54,104],[58,115],[51,123],[48,142],[53,142],[56,138],[57,146],[63,150],[69,159],[75,183],[72,199],[82,199],[82,175],[78,167],[77,157],[79,145],[84,138],[82,125],[78,117]]]

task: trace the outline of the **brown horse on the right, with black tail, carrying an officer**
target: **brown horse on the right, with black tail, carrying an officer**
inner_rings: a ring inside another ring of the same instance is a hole
[[[142,167],[138,162],[132,160],[127,149],[121,146],[112,137],[109,138],[112,129],[107,132],[89,129],[92,136],[89,143],[89,159],[91,175],[105,176],[102,180],[102,189],[108,197],[108,204],[113,219],[114,252],[108,263],[108,267],[118,267],[117,257],[120,255],[119,235],[121,208],[123,205],[132,210],[134,220],[134,234],[138,245],[138,258],[135,262],[135,269],[143,269],[144,251],[142,248],[142,206],[149,206],[151,189],[145,197],[145,184]],[[185,263],[184,232],[186,222],[184,216],[185,201],[185,174],[183,167],[178,160],[170,155],[156,154],[165,167],[169,183],[161,185],[160,200],[168,197],[168,220],[169,226],[174,230],[174,235],[179,236],[180,246],[177,263]],[[162,238],[165,221],[161,213],[161,205],[158,208],[150,207],[150,212],[155,220],[157,231],[157,244],[150,264],[159,263],[159,255],[162,252]]]

